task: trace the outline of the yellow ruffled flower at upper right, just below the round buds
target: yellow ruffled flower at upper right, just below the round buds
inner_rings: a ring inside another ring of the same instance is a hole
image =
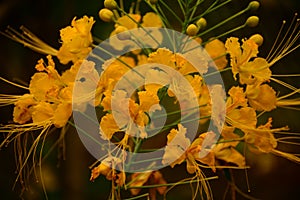
[[[270,65],[264,58],[257,57],[258,45],[253,40],[243,40],[242,46],[238,38],[228,38],[225,43],[230,54],[230,64],[235,80],[239,74],[241,84],[251,85],[255,82],[264,82],[270,79]]]

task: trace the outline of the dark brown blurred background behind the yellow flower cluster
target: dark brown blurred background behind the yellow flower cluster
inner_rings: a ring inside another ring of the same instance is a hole
[[[172,3],[171,0],[169,2]],[[245,7],[248,2],[249,0],[233,0],[230,5],[208,16],[207,21],[208,23],[222,21],[224,17],[228,17],[230,14],[239,11],[241,7]],[[0,1],[0,31],[5,31],[8,25],[15,29],[24,25],[42,40],[58,48],[60,46],[59,30],[68,26],[74,16],[80,18],[83,15],[88,15],[94,16],[96,20],[93,34],[100,39],[105,39],[108,36],[107,30],[111,30],[112,26],[111,24],[101,23],[98,18],[98,11],[102,8],[102,5],[103,1],[101,0],[2,0]],[[249,37],[253,33],[262,34],[265,41],[260,48],[260,53],[266,56],[275,41],[282,20],[287,20],[287,24],[289,24],[294,13],[299,11],[299,0],[262,0],[261,8],[254,13],[259,15],[260,25],[256,28],[243,29],[231,35]],[[245,14],[206,37],[209,38],[214,34],[234,28],[235,24],[242,24],[249,15],[248,13]],[[299,74],[299,53],[300,51],[297,50],[276,64],[272,68],[273,73]],[[35,72],[34,66],[41,57],[44,58],[45,56],[24,48],[21,44],[0,35],[1,77],[18,83],[29,83],[30,77]],[[58,65],[57,68],[61,71],[66,69],[65,66],[61,65]],[[284,81],[298,88],[300,87],[299,79],[286,78]],[[282,93],[288,92],[284,88],[281,89]],[[26,91],[0,82],[0,93],[23,94],[24,92]],[[11,121],[12,110],[13,107],[1,108],[1,123]],[[291,131],[300,132],[299,112],[278,109],[272,112],[272,116],[275,116],[274,127],[288,124]],[[55,133],[49,137],[49,143],[46,144],[45,151],[48,151],[51,144],[57,139],[58,134]],[[0,142],[2,139],[1,136]],[[20,198],[19,184],[17,183],[16,188],[12,189],[17,177],[13,147],[13,143],[11,143],[8,147],[0,150],[0,199]],[[287,148],[283,145],[280,148],[287,151],[300,151],[299,146]],[[94,183],[89,181],[89,166],[95,159],[86,151],[74,130],[70,129],[66,135],[65,158],[61,156],[62,149],[54,149],[43,162],[43,173],[45,174],[49,199],[107,199],[110,183],[106,182],[103,177],[98,178]],[[249,153],[247,156],[249,156],[247,163],[251,166],[251,169],[247,171],[251,189],[249,194],[251,196],[266,200],[299,199],[300,165],[272,155],[253,155]],[[184,167],[177,167],[176,170],[179,172],[184,171]],[[176,178],[175,174],[177,175],[177,173],[170,172],[168,168],[162,171],[167,181]],[[221,172],[218,172],[217,175],[220,178],[211,181],[211,185],[214,197],[218,200],[222,199],[226,189],[226,178]],[[234,177],[241,190],[247,193],[245,171],[235,171]],[[28,190],[23,195],[25,199],[45,199],[41,184],[36,180],[32,176]],[[190,198],[189,192],[189,186],[176,187],[170,193],[169,199],[188,199]],[[237,199],[245,199],[245,197],[237,194]]]

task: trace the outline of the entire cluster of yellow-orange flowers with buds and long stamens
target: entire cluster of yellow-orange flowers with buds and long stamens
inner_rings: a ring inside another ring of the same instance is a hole
[[[121,199],[120,191],[127,189],[132,196],[166,197],[177,184],[194,182],[197,185],[193,198],[200,194],[212,199],[210,178],[202,169],[210,168],[213,172],[224,168],[246,169],[249,166],[245,149],[259,154],[272,153],[299,163],[299,157],[277,148],[284,138],[277,139],[276,133],[287,131],[288,127],[272,128],[272,117],[260,120],[260,116],[278,107],[300,103],[290,99],[299,89],[285,84],[293,91],[279,96],[279,91],[269,84],[280,82],[273,77],[271,67],[299,47],[299,24],[281,50],[263,58],[259,57],[261,35],[248,39],[230,36],[238,29],[255,27],[259,21],[256,16],[222,35],[203,39],[225,22],[257,10],[259,2],[250,2],[247,8],[214,26],[206,21],[206,14],[230,1],[215,1],[199,14],[197,9],[202,2],[179,0],[182,17],[163,0],[133,1],[129,12],[122,0],[119,3],[105,0],[99,18],[113,24],[110,37],[104,41],[107,49],[93,41],[95,20],[88,16],[75,17],[71,26],[60,30],[58,50],[25,28],[22,30],[28,37],[26,40],[15,30],[8,30],[4,35],[46,54],[47,62],[41,59],[36,64],[37,72],[31,77],[27,94],[1,96],[4,105],[14,105],[14,124],[0,128],[1,132],[9,133],[1,146],[28,131],[41,130],[33,148],[27,152],[34,154],[38,141],[46,138],[49,128],[67,124],[76,127],[72,113],[87,116],[92,108],[97,115],[99,137],[96,139],[105,143],[99,145],[105,156],[92,169],[90,180],[105,176],[112,182],[111,198],[116,199]],[[139,10],[142,3],[151,11]],[[166,17],[169,15],[174,19]],[[173,32],[164,32],[166,29],[175,29],[184,36],[174,40]],[[122,55],[111,53],[131,47],[138,48]],[[53,56],[71,67],[60,74]],[[220,74],[233,77],[234,84],[225,85],[228,91],[216,78]],[[151,139],[155,144],[147,143]],[[138,155],[146,152],[160,154],[136,161]],[[28,159],[21,160],[24,163],[20,169],[23,169]],[[133,170],[136,163],[143,166]],[[169,165],[170,170],[175,170],[181,164],[186,165],[191,177],[167,183],[159,169]],[[149,188],[149,193],[141,194],[143,188]]]

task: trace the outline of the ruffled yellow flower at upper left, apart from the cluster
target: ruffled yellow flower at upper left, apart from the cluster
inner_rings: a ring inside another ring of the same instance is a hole
[[[93,42],[91,29],[94,23],[93,17],[84,16],[78,20],[75,17],[71,26],[61,29],[62,46],[57,53],[61,63],[67,64],[70,61],[75,63],[89,54],[92,50],[90,47]]]

